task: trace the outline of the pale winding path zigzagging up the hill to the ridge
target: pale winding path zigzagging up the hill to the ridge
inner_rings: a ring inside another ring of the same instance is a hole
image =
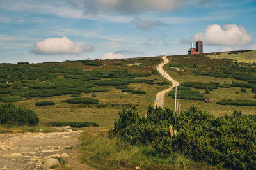
[[[155,101],[154,106],[161,106],[163,108],[163,104],[164,104],[164,94],[166,94],[167,92],[170,92],[172,90],[173,87],[175,87],[175,85],[179,85],[178,81],[174,80],[172,77],[170,77],[163,69],[163,66],[165,64],[167,64],[169,62],[169,60],[166,58],[166,56],[163,56],[163,60],[164,62],[161,62],[158,66],[156,66],[157,71],[159,71],[159,73],[166,78],[168,81],[172,82],[172,87],[169,87],[168,89],[165,89],[161,92],[158,92],[156,94],[156,99],[157,101]]]

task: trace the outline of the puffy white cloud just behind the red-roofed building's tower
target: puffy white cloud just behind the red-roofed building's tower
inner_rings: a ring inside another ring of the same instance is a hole
[[[252,36],[241,25],[209,25],[205,32],[198,32],[192,38],[194,41],[204,41],[209,45],[245,45],[252,42]]]

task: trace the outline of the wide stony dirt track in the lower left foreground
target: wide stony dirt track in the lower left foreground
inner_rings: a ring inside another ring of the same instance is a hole
[[[72,169],[90,169],[77,160],[77,135],[82,132],[0,134],[0,169],[43,169],[54,155],[68,160]]]

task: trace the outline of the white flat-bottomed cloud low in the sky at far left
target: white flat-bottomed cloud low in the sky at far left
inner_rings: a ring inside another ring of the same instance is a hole
[[[77,46],[76,43],[63,36],[63,38],[47,38],[43,41],[34,42],[31,52],[37,55],[60,55],[90,52],[93,50],[93,46],[88,43]]]

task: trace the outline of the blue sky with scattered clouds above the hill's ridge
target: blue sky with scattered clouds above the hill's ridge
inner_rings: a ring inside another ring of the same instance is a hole
[[[0,63],[256,49],[256,0],[0,0]]]

